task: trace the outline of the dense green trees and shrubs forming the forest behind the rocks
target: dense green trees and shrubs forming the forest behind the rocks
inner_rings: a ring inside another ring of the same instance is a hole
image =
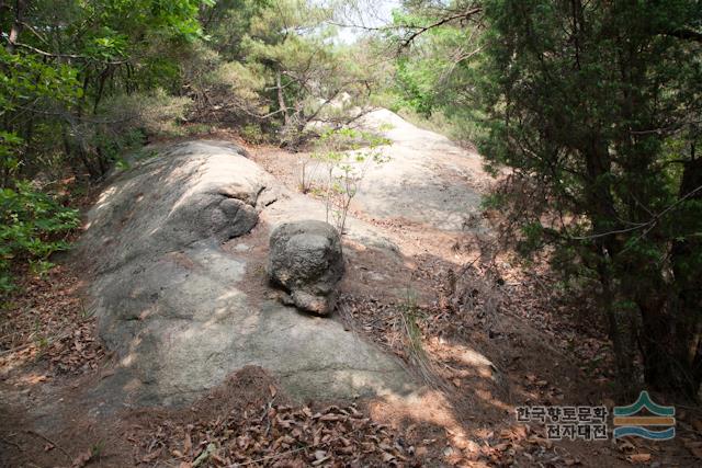
[[[128,151],[213,128],[295,150],[384,106],[478,148],[505,247],[595,298],[622,388],[641,362],[695,395],[702,2],[406,0],[387,24],[372,7],[0,1],[0,289],[50,267],[72,201]]]

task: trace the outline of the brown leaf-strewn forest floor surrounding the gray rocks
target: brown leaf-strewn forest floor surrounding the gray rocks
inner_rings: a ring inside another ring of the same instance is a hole
[[[206,138],[236,139],[228,133]],[[412,137],[415,138],[415,137]],[[414,139],[412,146],[419,142]],[[305,152],[253,147],[251,158],[293,190]],[[445,155],[445,148],[435,148]],[[452,158],[460,155],[452,155]],[[455,174],[450,174],[451,176]],[[473,178],[486,190],[487,175]],[[312,196],[312,195],[310,195]],[[388,199],[388,203],[392,203]],[[90,195],[86,196],[90,205]],[[403,266],[347,240],[338,318],[394,353],[431,391],[387,399],[294,403],[275,379],[245,367],[193,406],[83,408],[80,388],[110,375],[83,306],[90,278],[66,258],[44,277],[18,272],[0,318],[0,464],[48,466],[699,466],[702,410],[677,404],[677,437],[653,443],[546,437],[517,407],[604,406],[612,386],[603,324],[587,297],[556,287],[548,267],[517,263],[489,230],[445,230],[411,216],[352,215],[387,236]],[[483,215],[482,215],[483,216]],[[499,214],[482,217],[489,226]],[[254,231],[250,235],[256,243]],[[260,241],[260,239],[258,239]],[[380,287],[378,285],[382,285]],[[658,403],[670,403],[653,395]],[[53,425],[55,413],[63,424]],[[611,416],[608,419],[611,430]]]

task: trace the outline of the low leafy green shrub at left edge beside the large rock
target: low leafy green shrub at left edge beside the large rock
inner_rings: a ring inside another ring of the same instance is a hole
[[[53,265],[52,253],[66,250],[70,230],[79,225],[78,210],[61,206],[29,182],[0,191],[0,294],[14,288],[11,266],[26,262],[42,274]]]

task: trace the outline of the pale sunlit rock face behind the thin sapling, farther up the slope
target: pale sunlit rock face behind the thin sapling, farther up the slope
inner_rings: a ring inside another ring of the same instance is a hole
[[[356,209],[445,231],[466,230],[466,221],[479,216],[485,172],[475,151],[384,109],[365,114],[360,123],[370,130],[389,127],[383,133],[392,145],[382,148],[389,161],[365,172],[363,190],[353,199]]]

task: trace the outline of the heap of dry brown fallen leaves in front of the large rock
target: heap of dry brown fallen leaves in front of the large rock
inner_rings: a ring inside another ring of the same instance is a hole
[[[141,445],[136,463],[158,459],[197,467],[418,466],[415,448],[354,406],[313,411],[271,402],[258,411],[231,412],[211,421],[166,421]]]

